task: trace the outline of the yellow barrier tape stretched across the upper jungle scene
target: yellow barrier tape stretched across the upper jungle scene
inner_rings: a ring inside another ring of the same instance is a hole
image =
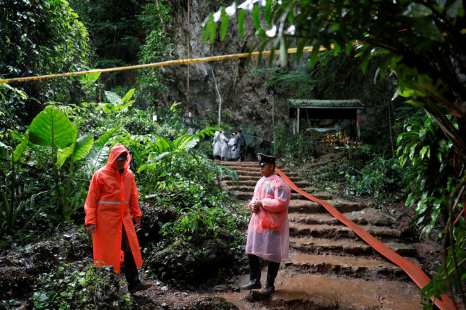
[[[360,44],[355,42],[353,45]],[[313,47],[304,47],[303,51],[312,51]],[[330,44],[330,49],[333,49],[333,44]],[[319,51],[325,51],[326,47],[319,47]],[[296,53],[297,49],[292,48],[288,49],[288,54]],[[225,59],[233,59],[233,58],[246,58],[250,56],[259,56],[261,54],[259,51],[249,53],[242,53],[242,54],[230,54],[230,55],[222,55],[222,56],[211,56],[211,57],[202,57],[202,58],[193,58],[193,59],[181,59],[181,60],[168,60],[162,61],[161,63],[147,63],[145,65],[129,65],[126,67],[113,67],[107,69],[95,69],[95,70],[87,70],[87,71],[78,71],[78,72],[68,72],[68,73],[60,73],[60,74],[49,74],[49,75],[40,75],[40,76],[27,76],[22,78],[14,78],[14,79],[0,79],[1,83],[14,83],[14,82],[26,82],[26,81],[36,81],[36,80],[43,80],[43,79],[54,79],[57,77],[62,76],[74,76],[80,74],[90,74],[90,73],[98,73],[98,72],[114,72],[114,71],[122,71],[122,70],[133,70],[133,69],[144,69],[150,67],[163,67],[166,65],[186,65],[188,63],[205,63],[207,61],[215,61],[215,60],[225,60]],[[270,55],[271,51],[263,51],[262,55]],[[274,54],[280,54],[280,51],[275,51]]]

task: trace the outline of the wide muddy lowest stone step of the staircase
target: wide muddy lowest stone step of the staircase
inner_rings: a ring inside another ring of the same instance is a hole
[[[293,251],[287,268],[307,274],[338,275],[360,279],[406,279],[408,276],[398,266],[381,258],[304,254]]]

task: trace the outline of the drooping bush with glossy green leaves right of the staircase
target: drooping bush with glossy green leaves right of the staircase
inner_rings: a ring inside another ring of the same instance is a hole
[[[439,215],[447,219],[449,193],[458,182],[451,161],[453,144],[444,139],[431,117],[424,124],[417,121],[405,124],[398,144],[400,164],[406,167],[406,206],[415,208],[415,221],[428,238]]]

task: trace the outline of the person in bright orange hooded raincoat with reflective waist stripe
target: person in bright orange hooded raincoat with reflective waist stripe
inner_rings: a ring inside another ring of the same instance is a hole
[[[113,266],[120,273],[124,252],[124,275],[128,291],[134,293],[152,284],[140,282],[138,268],[143,264],[138,237],[140,227],[139,195],[134,174],[129,170],[131,155],[118,143],[110,151],[109,161],[90,181],[86,211],[86,234],[93,237],[95,266]]]

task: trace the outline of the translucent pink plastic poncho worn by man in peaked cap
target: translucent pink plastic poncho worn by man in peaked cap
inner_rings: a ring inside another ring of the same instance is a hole
[[[289,252],[288,206],[291,193],[287,183],[273,174],[257,181],[249,204],[262,200],[262,208],[252,213],[248,227],[246,253],[268,261],[287,261]]]

